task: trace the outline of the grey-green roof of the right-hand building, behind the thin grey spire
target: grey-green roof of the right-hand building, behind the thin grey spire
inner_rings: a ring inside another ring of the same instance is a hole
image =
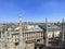
[[[46,29],[46,24],[40,26],[41,28]],[[54,23],[48,23],[48,30],[60,30],[61,27],[55,25]]]

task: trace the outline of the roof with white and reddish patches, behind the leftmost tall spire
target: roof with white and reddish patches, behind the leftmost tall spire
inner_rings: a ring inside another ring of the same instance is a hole
[[[11,32],[18,32],[20,29],[21,29],[20,26],[8,28],[8,30]],[[38,25],[22,25],[22,32],[39,32],[39,30],[43,29],[41,29]]]

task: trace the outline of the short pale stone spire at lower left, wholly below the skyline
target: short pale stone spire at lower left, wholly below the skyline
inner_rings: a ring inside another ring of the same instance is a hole
[[[11,28],[8,29],[8,32],[5,33],[5,40],[6,40],[6,49],[14,49],[14,44],[12,40],[12,35],[11,35]]]

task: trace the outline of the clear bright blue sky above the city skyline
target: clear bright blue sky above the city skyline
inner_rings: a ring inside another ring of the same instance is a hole
[[[0,22],[61,22],[65,19],[65,0],[0,0]]]

